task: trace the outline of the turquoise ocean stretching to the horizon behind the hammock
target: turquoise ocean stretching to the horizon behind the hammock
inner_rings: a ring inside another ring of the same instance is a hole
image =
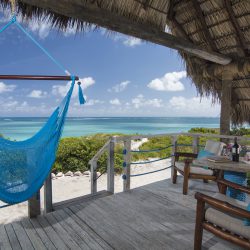
[[[38,117],[0,117],[0,134],[11,140],[33,136],[46,122]],[[63,137],[96,133],[161,134],[187,132],[193,127],[219,128],[219,118],[209,117],[82,117],[67,118]]]

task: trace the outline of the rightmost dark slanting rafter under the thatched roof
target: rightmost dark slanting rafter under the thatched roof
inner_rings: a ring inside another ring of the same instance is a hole
[[[232,5],[230,4],[230,1],[228,1],[228,0],[224,0],[224,2],[225,2],[226,10],[229,14],[229,19],[230,19],[230,21],[231,21],[231,23],[232,23],[232,25],[237,33],[237,39],[238,39],[240,45],[244,48],[243,52],[245,55],[249,55],[248,45],[245,41],[244,35],[240,29],[240,26],[237,22],[237,19],[235,18]]]

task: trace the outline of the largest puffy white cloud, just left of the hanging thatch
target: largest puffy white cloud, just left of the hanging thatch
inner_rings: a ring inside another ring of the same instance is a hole
[[[152,80],[147,86],[158,91],[181,91],[184,85],[180,80],[186,76],[186,71],[167,73],[162,78]]]

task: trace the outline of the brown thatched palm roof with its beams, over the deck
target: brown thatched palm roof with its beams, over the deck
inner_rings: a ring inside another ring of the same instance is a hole
[[[3,6],[7,0],[0,0]],[[249,0],[18,0],[23,17],[49,17],[59,29],[90,24],[179,49],[200,95],[221,99],[233,78],[231,117],[250,122]],[[165,33],[170,30],[172,36]]]

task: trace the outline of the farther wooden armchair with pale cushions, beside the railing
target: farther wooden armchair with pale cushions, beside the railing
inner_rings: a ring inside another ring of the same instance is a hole
[[[222,142],[216,142],[208,140],[206,142],[205,150],[213,153],[214,155],[221,155],[223,146],[225,144]],[[189,179],[203,179],[204,182],[208,180],[216,180],[216,176],[213,170],[205,169],[203,167],[192,167],[192,160],[197,158],[198,154],[192,153],[175,153],[174,160],[174,174],[172,182],[175,184],[177,181],[177,172],[179,172],[184,177],[183,181],[183,194],[186,195],[188,192],[188,180]],[[184,161],[179,161],[180,157],[185,157]]]

